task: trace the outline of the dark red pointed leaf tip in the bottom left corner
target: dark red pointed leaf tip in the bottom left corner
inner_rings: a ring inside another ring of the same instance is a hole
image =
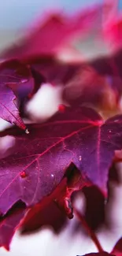
[[[25,205],[18,202],[5,217],[0,218],[0,247],[5,247],[6,250],[9,250],[9,243],[25,212]]]

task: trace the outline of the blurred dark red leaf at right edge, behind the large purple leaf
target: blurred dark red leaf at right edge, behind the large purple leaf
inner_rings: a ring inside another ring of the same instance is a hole
[[[98,58],[79,65],[63,89],[63,98],[71,105],[97,107],[104,116],[119,113],[121,98],[121,50],[111,57]]]

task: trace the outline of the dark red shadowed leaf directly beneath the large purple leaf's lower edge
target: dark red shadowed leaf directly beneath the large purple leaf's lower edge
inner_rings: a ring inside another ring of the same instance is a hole
[[[71,163],[65,177],[54,191],[28,210],[24,221],[21,223],[22,232],[34,231],[43,225],[51,225],[55,232],[59,231],[65,222],[66,215],[69,219],[73,217],[70,198],[72,192],[89,186],[91,186],[91,182],[87,180],[86,176],[82,176],[76,166]],[[49,211],[50,217],[48,215]]]

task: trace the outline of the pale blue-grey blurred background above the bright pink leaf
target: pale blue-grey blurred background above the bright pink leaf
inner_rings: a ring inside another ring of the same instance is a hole
[[[24,28],[26,31],[46,10],[62,9],[65,13],[74,13],[102,1],[107,0],[0,0],[0,52],[16,43],[23,36]],[[122,0],[119,9],[122,9]]]

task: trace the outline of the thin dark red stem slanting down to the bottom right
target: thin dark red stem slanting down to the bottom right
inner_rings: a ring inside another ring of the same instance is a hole
[[[92,241],[94,242],[95,246],[98,248],[98,252],[103,252],[104,250],[103,250],[101,244],[99,243],[97,236],[94,234],[92,229],[89,227],[89,225],[87,224],[87,221],[85,221],[85,218],[83,217],[83,215],[76,208],[73,207],[73,209],[74,209],[74,213],[76,214],[76,217],[79,219],[80,223],[83,224],[83,227],[87,231],[88,235],[91,236]]]

